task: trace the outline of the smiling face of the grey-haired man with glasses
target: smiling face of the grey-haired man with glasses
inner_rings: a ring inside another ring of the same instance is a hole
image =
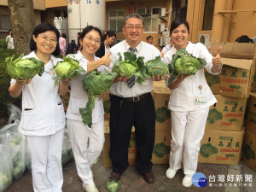
[[[123,27],[126,42],[131,47],[137,47],[143,39],[144,26],[143,21],[132,17],[126,20],[125,26]]]

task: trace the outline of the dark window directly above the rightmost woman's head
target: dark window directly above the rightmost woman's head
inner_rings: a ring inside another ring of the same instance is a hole
[[[172,1],[172,21],[175,19],[187,19],[188,0]]]

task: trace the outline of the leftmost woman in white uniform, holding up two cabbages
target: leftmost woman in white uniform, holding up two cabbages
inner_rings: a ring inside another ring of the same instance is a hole
[[[44,61],[44,73],[24,81],[12,79],[9,87],[11,96],[20,96],[22,92],[19,131],[27,139],[35,192],[60,192],[63,183],[61,148],[65,113],[60,95],[65,95],[68,87],[66,81],[55,87],[55,79],[49,73],[61,61],[55,57],[60,54],[59,37],[58,30],[49,23],[36,26],[30,41],[32,52],[24,58]]]

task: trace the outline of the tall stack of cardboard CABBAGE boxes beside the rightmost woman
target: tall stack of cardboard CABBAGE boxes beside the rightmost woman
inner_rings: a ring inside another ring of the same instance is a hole
[[[212,54],[219,45],[223,46],[222,71],[217,76],[206,72],[207,83],[218,102],[208,114],[199,162],[237,165],[243,144],[247,97],[255,72],[254,44],[214,43]]]

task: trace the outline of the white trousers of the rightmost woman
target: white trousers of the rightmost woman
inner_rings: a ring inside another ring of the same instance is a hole
[[[181,168],[184,174],[193,176],[196,172],[201,139],[204,136],[209,108],[188,112],[171,112],[172,142],[170,166]]]

